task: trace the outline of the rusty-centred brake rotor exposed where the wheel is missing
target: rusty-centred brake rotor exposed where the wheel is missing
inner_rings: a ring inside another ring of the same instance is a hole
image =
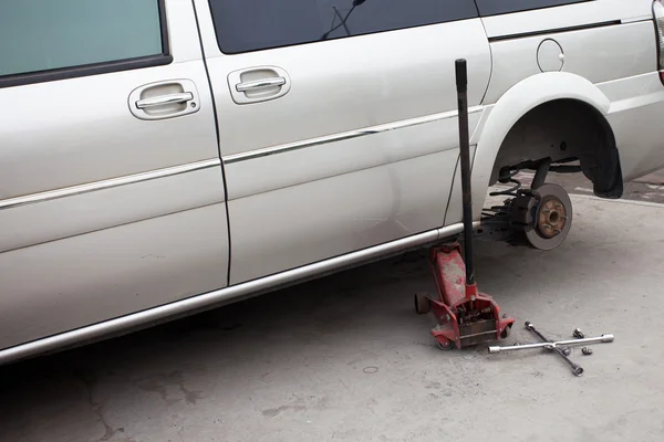
[[[558,185],[544,183],[532,190],[538,200],[526,239],[536,249],[552,250],[567,238],[572,227],[572,201]]]

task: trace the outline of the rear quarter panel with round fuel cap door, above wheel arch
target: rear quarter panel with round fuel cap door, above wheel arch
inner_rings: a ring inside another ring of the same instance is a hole
[[[485,17],[483,22],[494,59],[484,104],[499,102],[516,84],[544,71],[579,75],[610,103],[605,118],[623,179],[664,167],[664,86],[656,72],[652,0],[588,1]],[[560,66],[552,69],[557,61]]]

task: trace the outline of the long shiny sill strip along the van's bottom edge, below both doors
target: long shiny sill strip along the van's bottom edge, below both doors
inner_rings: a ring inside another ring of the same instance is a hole
[[[479,227],[479,222],[476,222],[474,225],[475,228]],[[149,308],[143,312],[133,313],[115,319],[77,328],[75,330],[65,332],[59,335],[49,336],[43,339],[9,347],[0,350],[0,364],[35,356],[53,349],[69,347],[80,341],[96,339],[122,330],[134,332],[136,329],[135,327],[141,325],[153,324],[166,318],[179,317],[187,313],[193,314],[203,309],[218,307],[240,297],[249,297],[251,295],[256,296],[272,290],[282,288],[283,286],[294,282],[301,282],[302,280],[311,278],[315,275],[328,274],[332,271],[346,269],[356,264],[363,264],[391,253],[397,253],[411,248],[435,243],[438,240],[460,233],[463,230],[463,223],[456,223],[442,229],[429,230],[428,232],[304,265],[302,267],[289,270],[276,275],[249,281],[242,284],[221,288],[215,292],[208,292],[201,295],[188,297],[186,299],[176,301],[174,303]]]

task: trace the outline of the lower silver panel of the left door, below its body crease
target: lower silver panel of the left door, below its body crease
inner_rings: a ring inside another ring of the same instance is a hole
[[[0,254],[0,348],[225,285],[222,203]]]

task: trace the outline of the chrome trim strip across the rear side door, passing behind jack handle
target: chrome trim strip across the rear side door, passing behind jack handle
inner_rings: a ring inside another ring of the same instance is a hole
[[[468,109],[468,114],[476,114],[478,112],[481,112],[483,109],[484,109],[484,106],[474,106]],[[384,125],[372,126],[372,127],[367,127],[365,129],[350,130],[350,131],[344,131],[344,133],[340,133],[340,134],[328,135],[324,137],[310,138],[310,139],[305,139],[302,141],[287,143],[284,145],[266,147],[262,149],[251,150],[248,152],[227,155],[222,159],[224,159],[225,165],[231,165],[234,162],[267,157],[269,155],[284,154],[284,152],[292,151],[292,150],[299,150],[299,149],[303,149],[305,147],[319,146],[319,145],[324,145],[324,144],[334,143],[334,141],[342,141],[344,139],[363,137],[365,135],[381,134],[384,131],[403,129],[404,127],[418,126],[418,125],[426,124],[426,123],[433,123],[433,122],[438,122],[438,120],[443,120],[443,119],[454,118],[457,115],[458,115],[457,110],[449,110],[449,112],[444,112],[442,114],[433,114],[433,115],[427,115],[424,117],[404,119],[404,120],[396,122],[396,123],[387,123]]]

